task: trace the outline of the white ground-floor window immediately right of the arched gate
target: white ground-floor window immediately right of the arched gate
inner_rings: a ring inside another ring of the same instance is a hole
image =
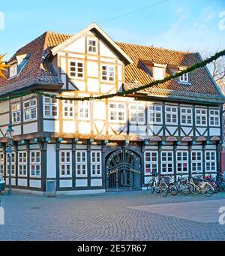
[[[145,175],[158,172],[158,152],[145,151]]]

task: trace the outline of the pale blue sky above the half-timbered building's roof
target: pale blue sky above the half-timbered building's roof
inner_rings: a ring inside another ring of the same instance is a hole
[[[0,5],[0,53],[7,59],[46,30],[75,34],[95,21],[163,0],[11,0]],[[5,29],[1,17],[5,16]],[[168,0],[101,27],[115,41],[194,52],[224,48],[224,0]]]

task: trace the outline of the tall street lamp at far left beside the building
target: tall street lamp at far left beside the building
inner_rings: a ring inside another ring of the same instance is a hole
[[[12,195],[12,146],[13,146],[13,128],[12,125],[8,125],[5,137],[7,137],[7,148],[6,152],[8,154],[9,161],[9,177],[8,177],[8,191],[7,195]]]

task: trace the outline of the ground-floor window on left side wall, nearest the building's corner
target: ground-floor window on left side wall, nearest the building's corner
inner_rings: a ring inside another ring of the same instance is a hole
[[[30,152],[30,176],[40,178],[41,176],[41,155],[39,150]]]

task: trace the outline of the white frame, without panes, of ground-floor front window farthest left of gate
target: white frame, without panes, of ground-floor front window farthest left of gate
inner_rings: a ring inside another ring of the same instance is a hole
[[[65,161],[62,161],[62,153],[65,153]],[[68,160],[68,154],[69,153],[69,158],[70,160]],[[72,161],[72,158],[73,158],[73,154],[72,154],[72,150],[60,150],[59,151],[59,177],[60,178],[72,178],[72,164],[73,164],[73,161]],[[64,171],[65,171],[65,174],[62,174],[62,166],[65,167]],[[68,167],[69,167],[69,170],[70,170],[70,173],[68,174]]]

